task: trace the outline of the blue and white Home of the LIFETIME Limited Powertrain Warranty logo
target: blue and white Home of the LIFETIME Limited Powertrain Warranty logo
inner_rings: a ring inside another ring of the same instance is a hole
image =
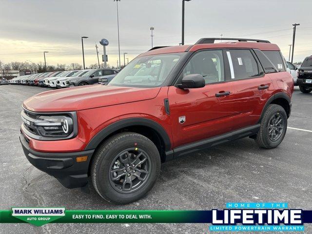
[[[285,209],[288,203],[227,203],[226,207],[212,210],[209,231],[304,231],[302,210]]]

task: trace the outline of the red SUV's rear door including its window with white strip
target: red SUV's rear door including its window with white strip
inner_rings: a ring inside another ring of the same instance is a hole
[[[237,130],[258,122],[274,87],[253,50],[229,49],[225,52],[230,64],[231,90],[235,99],[233,130]]]

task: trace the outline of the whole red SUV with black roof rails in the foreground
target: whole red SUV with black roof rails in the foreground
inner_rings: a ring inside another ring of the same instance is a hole
[[[125,204],[152,189],[161,162],[254,138],[278,146],[287,130],[292,76],[277,45],[212,38],[155,47],[106,86],[35,95],[23,103],[27,159],[67,188]]]

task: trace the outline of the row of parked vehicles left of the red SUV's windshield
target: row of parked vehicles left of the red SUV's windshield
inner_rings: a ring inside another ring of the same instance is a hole
[[[35,85],[51,88],[66,88],[89,84],[108,84],[118,71],[115,69],[85,69],[45,72],[20,76],[8,81],[10,84]],[[99,82],[99,78],[101,81]],[[103,82],[103,80],[105,82]]]

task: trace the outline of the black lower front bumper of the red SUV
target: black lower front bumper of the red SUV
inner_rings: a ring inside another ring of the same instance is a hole
[[[31,149],[26,137],[20,134],[20,143],[28,161],[50,176],[54,176],[66,188],[83,187],[88,183],[88,168],[94,150],[70,153],[45,153]],[[76,157],[88,156],[84,162],[76,162]]]

